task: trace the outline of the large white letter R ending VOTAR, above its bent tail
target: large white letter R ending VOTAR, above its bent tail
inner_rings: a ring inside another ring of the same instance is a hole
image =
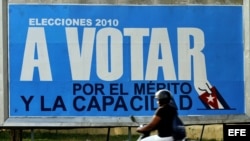
[[[191,80],[193,59],[194,81],[207,80],[206,62],[202,50],[204,33],[198,28],[178,28],[178,70],[180,80]]]

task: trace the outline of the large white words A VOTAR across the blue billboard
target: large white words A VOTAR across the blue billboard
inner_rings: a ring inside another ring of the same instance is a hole
[[[31,19],[30,24],[33,22]],[[152,28],[151,33],[149,31],[149,28],[124,28],[122,33],[116,28],[101,28],[98,31],[96,28],[83,28],[80,45],[78,28],[66,27],[72,80],[90,80],[92,71],[96,71],[99,79],[104,81],[118,80],[124,71],[130,71],[131,80],[157,80],[159,73],[163,73],[164,80],[177,80],[168,29]],[[207,80],[204,79],[207,75],[202,30],[178,28],[177,33],[178,79],[191,80],[194,76],[194,81]],[[128,36],[130,41],[124,43],[123,36]],[[149,42],[145,43],[145,39]],[[44,28],[30,27],[26,40],[21,80],[33,80],[34,68],[37,67],[40,79],[51,81]],[[130,49],[127,56],[124,54],[125,47]],[[93,57],[96,57],[96,62],[93,62]],[[130,67],[124,68],[124,59],[130,60]]]

